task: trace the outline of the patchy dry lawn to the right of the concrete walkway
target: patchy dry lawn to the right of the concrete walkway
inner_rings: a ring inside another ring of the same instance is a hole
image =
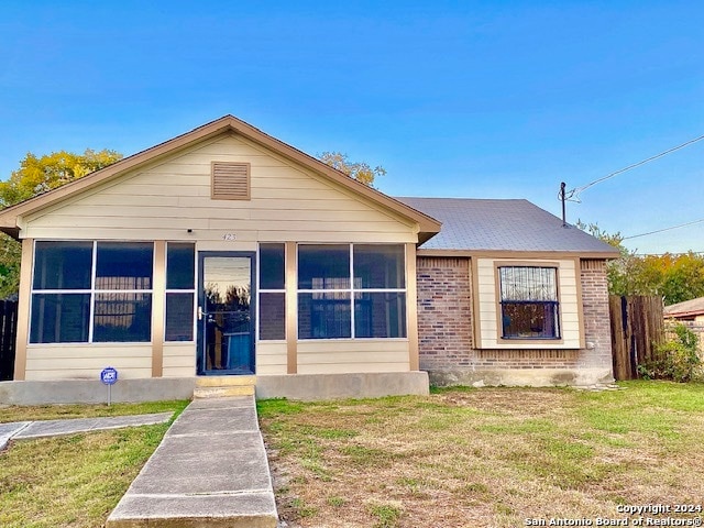
[[[515,527],[701,504],[704,385],[624,386],[261,402],[279,515],[300,527]]]

